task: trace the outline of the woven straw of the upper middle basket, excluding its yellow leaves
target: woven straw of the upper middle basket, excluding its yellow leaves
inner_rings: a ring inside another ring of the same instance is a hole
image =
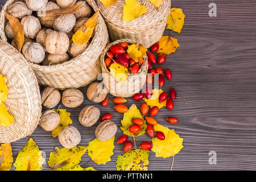
[[[148,0],[140,0],[139,2],[146,6],[147,13],[133,21],[123,22],[125,0],[118,0],[109,7],[105,7],[100,0],[97,0],[112,41],[131,39],[148,48],[161,38],[166,27],[171,0],[163,0],[159,8]]]

